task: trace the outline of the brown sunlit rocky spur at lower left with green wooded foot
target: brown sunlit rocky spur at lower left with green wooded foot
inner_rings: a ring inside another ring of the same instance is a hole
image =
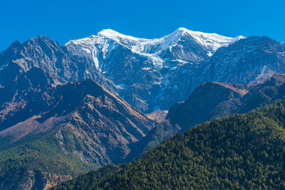
[[[45,189],[121,162],[130,144],[155,126],[94,80],[56,85],[26,96],[17,109],[0,110],[4,126],[0,186],[4,189]]]

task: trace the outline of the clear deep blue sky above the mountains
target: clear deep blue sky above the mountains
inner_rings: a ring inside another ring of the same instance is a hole
[[[0,0],[0,52],[43,34],[62,45],[104,28],[158,38],[176,28],[285,42],[283,0]]]

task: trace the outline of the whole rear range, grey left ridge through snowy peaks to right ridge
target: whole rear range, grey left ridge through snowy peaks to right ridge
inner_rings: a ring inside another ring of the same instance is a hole
[[[15,63],[25,72],[41,68],[56,84],[92,78],[150,113],[186,100],[205,82],[257,84],[285,73],[284,52],[284,44],[268,37],[229,38],[178,28],[145,39],[103,30],[64,47],[45,36],[16,41],[1,53],[0,65],[9,70],[7,64]]]

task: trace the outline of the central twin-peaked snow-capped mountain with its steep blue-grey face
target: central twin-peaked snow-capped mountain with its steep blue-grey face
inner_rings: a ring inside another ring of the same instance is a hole
[[[173,75],[195,73],[198,63],[218,48],[241,38],[244,37],[230,38],[178,28],[162,38],[145,39],[107,29],[88,38],[69,41],[66,48],[73,55],[93,60],[93,66],[113,80],[121,97],[139,110],[150,112],[167,109],[190,95],[194,86],[177,88],[175,83],[179,81]],[[187,86],[190,83],[180,82]]]

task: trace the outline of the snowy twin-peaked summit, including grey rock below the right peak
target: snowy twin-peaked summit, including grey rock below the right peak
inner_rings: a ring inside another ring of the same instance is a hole
[[[77,56],[91,58],[99,69],[102,65],[99,63],[98,56],[107,58],[110,51],[118,46],[128,48],[138,56],[144,56],[152,61],[156,68],[162,68],[165,66],[165,58],[179,60],[179,63],[193,63],[204,58],[200,54],[212,56],[218,48],[228,46],[241,38],[244,37],[231,38],[217,33],[202,33],[178,28],[162,38],[147,39],[105,29],[88,38],[69,41],[66,47]]]

